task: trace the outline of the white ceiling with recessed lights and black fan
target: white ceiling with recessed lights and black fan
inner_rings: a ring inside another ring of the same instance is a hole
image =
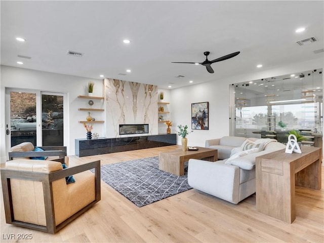
[[[178,88],[254,73],[259,63],[323,58],[314,53],[324,47],[323,9],[323,1],[1,1],[1,64]],[[296,44],[312,36],[318,41]],[[171,63],[203,62],[205,51],[209,60],[241,53],[212,64],[215,73]]]

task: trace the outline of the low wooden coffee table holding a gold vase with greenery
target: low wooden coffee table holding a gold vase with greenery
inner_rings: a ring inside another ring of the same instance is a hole
[[[184,163],[189,158],[204,159],[207,161],[217,161],[217,149],[196,147],[198,150],[182,149],[160,152],[159,154],[159,169],[177,176],[184,175]]]

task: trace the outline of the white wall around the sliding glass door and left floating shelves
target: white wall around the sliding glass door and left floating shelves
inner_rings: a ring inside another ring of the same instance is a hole
[[[1,84],[0,84],[0,157],[1,163],[6,161],[7,152],[5,137],[6,129],[4,129],[5,120],[5,89],[7,88],[19,88],[19,89],[29,89],[29,90],[39,90],[46,92],[58,92],[66,93],[68,99],[68,107],[66,108],[65,115],[68,115],[68,127],[64,128],[68,130],[67,144],[64,144],[68,148],[68,154],[74,154],[74,139],[75,138],[86,138],[86,130],[83,124],[79,124],[78,120],[85,120],[87,117],[86,111],[78,111],[78,108],[86,108],[88,105],[88,100],[78,99],[78,95],[88,95],[87,85],[89,81],[95,83],[94,86],[94,96],[102,96],[102,80],[91,79],[85,77],[77,77],[71,75],[50,73],[35,71],[24,68],[16,68],[9,66],[1,66]],[[94,107],[97,108],[97,107]],[[103,112],[102,112],[103,113]],[[103,114],[100,114],[103,116]],[[98,118],[97,119],[102,119]],[[94,131],[98,132],[100,135],[102,132],[103,125],[95,124]],[[10,136],[10,135],[9,135]]]

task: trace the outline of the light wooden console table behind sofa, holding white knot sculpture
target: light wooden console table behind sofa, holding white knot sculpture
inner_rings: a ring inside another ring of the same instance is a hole
[[[321,188],[321,148],[301,146],[302,153],[285,149],[256,158],[256,207],[263,214],[292,223],[295,185]]]

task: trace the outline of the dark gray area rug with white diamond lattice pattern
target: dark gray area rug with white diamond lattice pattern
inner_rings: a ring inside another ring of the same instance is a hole
[[[158,156],[136,159],[101,166],[101,179],[123,194],[136,206],[142,207],[154,201],[191,189],[185,175],[176,176],[158,169]]]

